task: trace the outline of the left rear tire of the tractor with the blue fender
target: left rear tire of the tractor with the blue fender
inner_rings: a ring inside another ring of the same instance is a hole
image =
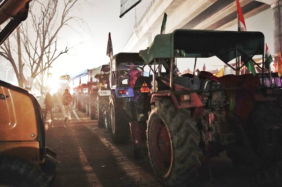
[[[116,98],[111,95],[109,106],[109,122],[114,143],[128,143],[131,121],[130,101],[133,97]]]

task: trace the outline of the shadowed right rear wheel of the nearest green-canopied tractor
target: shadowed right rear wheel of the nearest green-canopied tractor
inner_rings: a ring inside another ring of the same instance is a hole
[[[281,161],[281,124],[281,111],[272,102],[257,103],[250,114],[244,131],[254,153],[263,160],[262,167]]]

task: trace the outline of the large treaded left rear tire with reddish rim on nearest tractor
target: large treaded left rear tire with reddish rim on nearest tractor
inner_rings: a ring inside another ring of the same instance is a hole
[[[190,111],[163,99],[152,106],[147,124],[151,165],[164,186],[197,186],[200,135]]]

